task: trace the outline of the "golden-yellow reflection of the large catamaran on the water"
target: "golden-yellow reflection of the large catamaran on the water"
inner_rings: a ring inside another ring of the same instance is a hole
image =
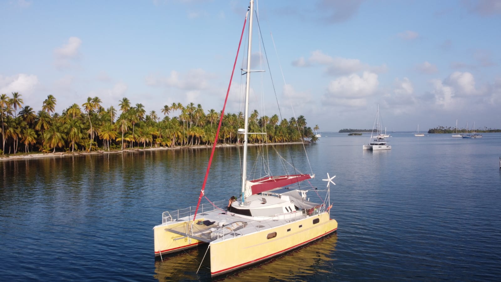
[[[338,236],[335,232],[297,250],[218,277],[217,280],[296,280],[298,277],[305,279],[305,277],[314,275],[318,271],[326,271],[329,261],[333,260],[332,254],[336,249],[337,240]],[[204,245],[198,249],[192,249],[177,255],[164,257],[163,261],[155,261],[154,278],[159,281],[212,280],[210,277],[208,253],[205,256],[200,270],[196,273],[199,261],[202,260],[206,247],[207,245]]]

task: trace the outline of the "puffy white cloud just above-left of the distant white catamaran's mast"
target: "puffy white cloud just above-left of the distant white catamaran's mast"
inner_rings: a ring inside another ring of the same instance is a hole
[[[377,89],[378,84],[378,75],[365,71],[361,77],[351,74],[331,81],[326,95],[348,99],[367,97]]]

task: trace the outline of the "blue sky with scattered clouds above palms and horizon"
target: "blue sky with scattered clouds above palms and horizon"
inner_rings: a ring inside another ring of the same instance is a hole
[[[89,96],[105,108],[127,97],[160,116],[172,102],[219,111],[247,5],[0,1],[0,93],[19,92],[36,111],[52,94],[59,113]],[[278,100],[284,118],[304,115],[320,131],[372,128],[379,104],[388,130],[456,119],[501,128],[501,1],[258,1],[256,9],[272,68],[252,67],[266,69],[252,78],[267,100],[250,106],[260,115],[278,113]],[[260,83],[270,73],[277,97]],[[229,112],[242,110],[239,74]]]

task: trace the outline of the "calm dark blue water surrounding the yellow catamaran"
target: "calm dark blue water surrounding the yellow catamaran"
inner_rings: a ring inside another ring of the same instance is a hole
[[[370,152],[365,134],[323,134],[307,151],[314,185],[337,175],[337,234],[219,279],[498,280],[501,134],[483,136],[394,133],[391,151]],[[279,148],[293,157],[301,150]],[[155,261],[152,231],[163,211],[196,204],[208,152],[0,162],[0,277],[210,280],[207,261],[196,273],[205,248]],[[238,158],[236,149],[218,150],[209,199],[237,194]]]

